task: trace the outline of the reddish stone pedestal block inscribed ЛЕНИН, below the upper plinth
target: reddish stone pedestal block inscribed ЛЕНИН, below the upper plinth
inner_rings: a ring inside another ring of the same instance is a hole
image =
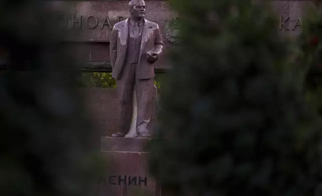
[[[101,153],[108,159],[108,165],[99,180],[96,195],[160,195],[160,185],[147,172],[147,153],[105,151]]]

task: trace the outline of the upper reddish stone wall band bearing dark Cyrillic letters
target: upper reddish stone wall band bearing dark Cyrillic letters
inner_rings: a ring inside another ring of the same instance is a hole
[[[98,1],[59,1],[61,6],[69,7],[66,16],[66,28],[69,29],[70,36],[68,40],[78,41],[109,41],[110,29],[112,26],[129,16],[127,7],[128,0],[98,0]],[[55,1],[51,2],[55,3]],[[298,17],[303,17],[306,7],[315,7],[315,0],[271,0],[273,11],[277,17],[286,18],[289,21],[285,23],[283,29],[287,29],[289,25],[295,24]],[[165,23],[177,14],[171,11],[166,0],[148,0],[146,1],[145,18],[159,24],[164,40]],[[78,22],[81,16],[81,25]],[[72,22],[72,18],[74,21]],[[108,20],[106,20],[108,18]],[[62,19],[62,18],[61,18]],[[103,25],[103,24],[106,25]],[[289,25],[288,25],[289,23]],[[276,28],[279,25],[276,24]],[[300,29],[300,28],[298,28]],[[297,33],[299,30],[290,29],[290,32]],[[284,31],[283,33],[289,33]]]

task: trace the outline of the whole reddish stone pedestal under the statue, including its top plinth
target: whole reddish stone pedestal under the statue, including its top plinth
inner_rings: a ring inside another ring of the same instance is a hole
[[[99,181],[99,196],[160,196],[161,187],[148,173],[146,138],[101,137],[108,160]]]

